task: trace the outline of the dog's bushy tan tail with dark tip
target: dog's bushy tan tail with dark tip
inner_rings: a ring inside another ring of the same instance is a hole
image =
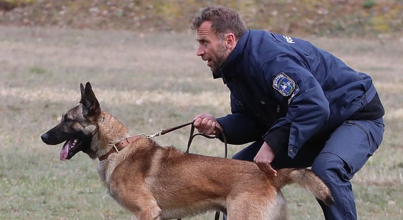
[[[277,170],[276,180],[280,189],[285,185],[297,183],[326,205],[334,204],[329,188],[309,169],[280,169]]]

